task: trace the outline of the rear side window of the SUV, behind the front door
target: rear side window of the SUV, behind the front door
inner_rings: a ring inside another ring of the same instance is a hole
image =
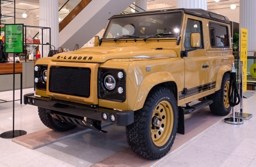
[[[216,23],[209,23],[211,46],[217,48],[229,47],[228,27]]]

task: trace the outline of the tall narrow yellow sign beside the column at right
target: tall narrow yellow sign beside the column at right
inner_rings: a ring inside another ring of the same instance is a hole
[[[240,51],[241,61],[243,61],[243,92],[247,90],[247,36],[248,29],[241,28]]]

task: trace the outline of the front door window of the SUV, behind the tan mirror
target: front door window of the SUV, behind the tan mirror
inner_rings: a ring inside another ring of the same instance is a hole
[[[184,36],[185,37],[184,38],[185,39],[184,40],[185,48],[191,48],[191,45],[190,45],[191,33],[200,33],[201,34],[201,47],[200,48],[204,48],[202,22],[201,21],[188,18],[186,32],[185,32],[185,36]]]

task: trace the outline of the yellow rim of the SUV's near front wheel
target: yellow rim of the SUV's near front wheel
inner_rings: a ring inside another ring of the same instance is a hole
[[[168,101],[161,101],[154,109],[151,120],[151,138],[155,145],[162,147],[168,142],[173,129],[173,109]]]

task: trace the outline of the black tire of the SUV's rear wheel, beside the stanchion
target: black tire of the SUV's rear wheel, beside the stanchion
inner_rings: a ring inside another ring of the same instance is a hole
[[[214,94],[211,94],[209,96],[209,98],[213,100],[212,104],[209,105],[210,110],[215,115],[225,116],[225,115],[228,115],[228,113],[230,113],[231,106],[230,105],[228,107],[225,106],[225,101],[228,100],[228,97],[225,98],[225,96],[228,95],[228,93],[225,91],[228,91],[227,83],[229,82],[229,80],[230,80],[230,74],[225,73],[221,81],[220,90],[214,92]]]

